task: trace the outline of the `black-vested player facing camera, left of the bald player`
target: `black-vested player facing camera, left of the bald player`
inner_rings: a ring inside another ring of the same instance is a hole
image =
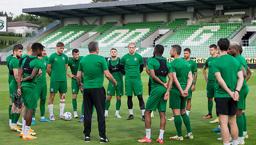
[[[124,68],[121,68],[120,59],[117,58],[117,49],[112,48],[110,50],[110,55],[111,60],[107,61],[107,67],[111,75],[117,81],[117,86],[113,87],[113,83],[108,82],[105,117],[108,116],[108,108],[110,108],[110,101],[112,99],[112,96],[116,95],[116,114],[114,115],[114,117],[121,118],[121,116],[119,115],[119,109],[121,107],[121,96],[124,95],[123,75],[125,74],[125,71]]]

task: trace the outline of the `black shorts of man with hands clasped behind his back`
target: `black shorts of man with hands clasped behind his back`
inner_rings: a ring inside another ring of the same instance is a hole
[[[238,107],[238,101],[234,101],[233,98],[215,98],[216,102],[216,114],[222,115],[236,115],[236,109]]]

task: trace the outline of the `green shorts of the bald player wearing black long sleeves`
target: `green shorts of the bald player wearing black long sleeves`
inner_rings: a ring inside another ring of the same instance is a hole
[[[143,85],[141,79],[127,79],[125,78],[125,95],[132,96],[132,92],[135,96],[143,95]]]

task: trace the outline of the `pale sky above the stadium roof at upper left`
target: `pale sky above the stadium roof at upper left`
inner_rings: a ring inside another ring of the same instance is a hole
[[[12,12],[16,16],[22,14],[24,8],[39,8],[44,6],[71,5],[91,3],[91,0],[0,0],[0,11]]]

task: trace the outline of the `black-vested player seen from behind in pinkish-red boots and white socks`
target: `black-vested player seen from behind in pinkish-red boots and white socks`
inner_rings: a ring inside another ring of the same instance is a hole
[[[146,136],[138,142],[151,142],[151,111],[158,109],[160,115],[160,133],[156,140],[159,143],[163,143],[164,128],[166,124],[165,111],[167,106],[167,100],[170,94],[170,88],[172,85],[172,69],[171,64],[166,58],[163,58],[164,47],[157,44],[154,48],[155,57],[152,58],[149,63],[149,71],[152,79],[151,93],[146,101],[145,108],[145,128]],[[167,76],[169,81],[167,83]]]

